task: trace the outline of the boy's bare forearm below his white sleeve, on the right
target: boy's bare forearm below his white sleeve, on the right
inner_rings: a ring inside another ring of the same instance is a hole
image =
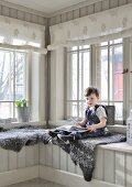
[[[101,118],[99,123],[89,125],[88,130],[95,131],[97,129],[105,128],[106,127],[106,122],[107,122],[107,119],[106,118]]]

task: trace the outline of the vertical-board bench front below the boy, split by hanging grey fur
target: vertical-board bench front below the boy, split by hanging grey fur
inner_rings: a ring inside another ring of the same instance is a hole
[[[82,176],[80,168],[72,162],[69,155],[56,145],[40,144],[40,164],[47,168]],[[113,186],[131,187],[132,148],[127,153],[99,146],[96,151],[94,178]]]

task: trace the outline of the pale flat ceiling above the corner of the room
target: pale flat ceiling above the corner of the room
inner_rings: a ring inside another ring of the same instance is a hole
[[[4,0],[4,2],[14,3],[47,14],[57,12],[58,10],[85,2],[86,0]],[[87,0],[91,1],[91,0]]]

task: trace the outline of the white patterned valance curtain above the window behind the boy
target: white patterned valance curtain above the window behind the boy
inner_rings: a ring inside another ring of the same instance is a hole
[[[132,35],[132,4],[53,25],[50,32],[48,50],[127,37]]]

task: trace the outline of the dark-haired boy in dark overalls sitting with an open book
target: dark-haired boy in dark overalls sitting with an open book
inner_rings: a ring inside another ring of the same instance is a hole
[[[58,139],[67,141],[99,136],[105,134],[107,112],[105,106],[98,105],[99,90],[95,87],[88,87],[85,90],[85,98],[87,109],[85,111],[84,120],[76,123],[76,127],[72,127],[69,131],[61,128],[56,129],[55,131],[50,131],[51,136],[57,136]]]

